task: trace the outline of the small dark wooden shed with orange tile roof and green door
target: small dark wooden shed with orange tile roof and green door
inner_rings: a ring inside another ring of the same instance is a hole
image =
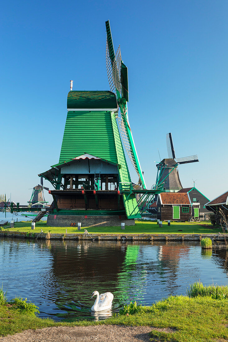
[[[157,219],[188,221],[192,216],[188,193],[161,193],[157,197]]]

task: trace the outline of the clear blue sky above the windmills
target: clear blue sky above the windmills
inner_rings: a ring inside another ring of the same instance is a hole
[[[129,121],[147,187],[172,132],[176,156],[200,160],[179,167],[183,187],[197,179],[210,199],[225,192],[227,13],[224,0],[2,3],[0,193],[25,203],[37,174],[58,163],[69,80],[74,90],[109,90],[107,19],[128,67]]]

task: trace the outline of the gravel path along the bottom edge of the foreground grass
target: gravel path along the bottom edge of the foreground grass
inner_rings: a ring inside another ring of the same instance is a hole
[[[119,325],[97,325],[88,327],[49,327],[25,330],[15,335],[0,337],[1,342],[142,342],[150,341],[148,334],[153,327],[128,327]],[[171,330],[171,329],[170,329]]]

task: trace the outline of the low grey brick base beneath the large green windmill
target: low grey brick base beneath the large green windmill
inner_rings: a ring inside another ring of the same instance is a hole
[[[135,225],[134,219],[127,219],[126,216],[122,216],[120,219],[119,216],[115,215],[87,215],[87,218],[85,218],[84,215],[49,214],[47,218],[47,225],[52,227],[71,227],[71,223],[75,223],[75,226],[77,226],[78,222],[81,222],[81,227],[121,226],[122,222],[124,222],[126,226]]]

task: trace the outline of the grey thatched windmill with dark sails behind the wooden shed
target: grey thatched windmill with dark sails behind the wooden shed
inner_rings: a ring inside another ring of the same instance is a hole
[[[168,158],[163,159],[156,165],[158,171],[156,185],[159,186],[162,184],[165,190],[180,190],[183,187],[180,182],[180,177],[177,169],[178,165],[194,163],[199,161],[199,159],[197,155],[176,158],[172,133],[166,134],[166,144],[168,150]]]

